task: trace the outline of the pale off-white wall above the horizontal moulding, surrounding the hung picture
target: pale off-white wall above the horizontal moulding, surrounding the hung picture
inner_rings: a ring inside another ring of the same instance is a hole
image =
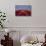
[[[0,0],[0,9],[7,13],[7,27],[46,27],[46,0],[32,0],[32,16],[17,17],[15,16],[15,5],[31,4],[25,3],[26,0]],[[19,2],[19,3],[18,3]],[[14,23],[13,23],[14,22]]]

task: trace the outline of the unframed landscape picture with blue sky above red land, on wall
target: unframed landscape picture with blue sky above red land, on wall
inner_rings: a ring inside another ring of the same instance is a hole
[[[32,5],[16,5],[16,16],[32,16]]]

